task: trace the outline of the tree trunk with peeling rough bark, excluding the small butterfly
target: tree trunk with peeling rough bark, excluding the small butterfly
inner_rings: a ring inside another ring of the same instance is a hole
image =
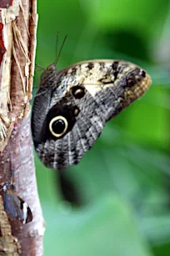
[[[36,29],[36,0],[0,0],[0,185],[13,182],[33,215],[26,225],[8,221],[0,197],[0,255],[43,252],[29,117]]]

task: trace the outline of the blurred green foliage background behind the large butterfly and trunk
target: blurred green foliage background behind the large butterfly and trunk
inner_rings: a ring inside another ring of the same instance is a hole
[[[109,121],[61,175],[35,157],[45,256],[170,255],[170,1],[37,1],[37,64],[126,59],[151,74],[142,99]],[[35,74],[37,87],[40,73]],[[67,184],[66,184],[67,182]],[[67,186],[66,186],[67,185]]]

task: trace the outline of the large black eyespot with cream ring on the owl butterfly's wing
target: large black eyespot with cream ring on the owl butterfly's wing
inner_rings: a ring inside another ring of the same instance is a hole
[[[62,115],[58,115],[50,121],[49,131],[52,136],[59,138],[67,131],[67,125],[67,119]]]

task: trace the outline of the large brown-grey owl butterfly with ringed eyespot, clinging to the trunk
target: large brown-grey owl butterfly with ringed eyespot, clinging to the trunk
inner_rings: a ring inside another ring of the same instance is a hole
[[[136,64],[99,59],[42,73],[32,106],[32,138],[45,166],[77,164],[107,120],[148,90],[151,78]]]

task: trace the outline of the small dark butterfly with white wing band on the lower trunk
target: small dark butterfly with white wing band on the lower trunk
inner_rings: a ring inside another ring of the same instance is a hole
[[[14,219],[18,219],[23,224],[32,221],[32,211],[16,192],[13,191],[13,185],[4,185],[3,191],[3,207],[7,215]]]

